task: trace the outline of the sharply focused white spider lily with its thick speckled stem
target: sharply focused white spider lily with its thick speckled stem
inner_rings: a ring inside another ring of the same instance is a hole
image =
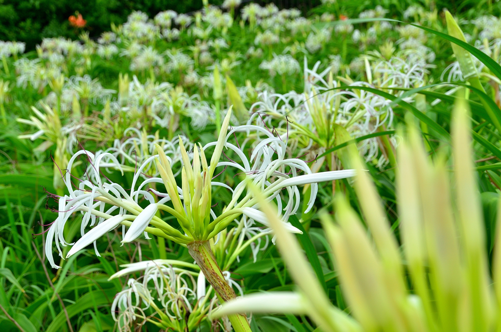
[[[61,257],[63,257],[61,246],[73,245],[66,255],[68,258],[92,243],[96,254],[99,254],[96,241],[122,225],[122,243],[135,241],[144,233],[147,238],[148,234],[152,234],[187,247],[219,301],[224,302],[234,298],[235,292],[226,282],[211,251],[209,240],[217,241],[219,233],[225,232],[233,221],[242,216],[265,226],[269,225],[268,219],[257,209],[258,201],[253,192],[247,189],[247,184],[252,183],[261,188],[269,201],[275,200],[283,211],[281,220],[291,231],[300,232],[287,223],[288,217],[295,214],[300,206],[297,186],[311,184],[306,211],[308,212],[315,202],[317,183],[352,177],[354,171],[312,174],[305,161],[286,157],[286,141],[275,137],[262,127],[253,125],[243,125],[228,131],[230,118],[231,108],[224,118],[217,141],[203,147],[195,145],[192,157],[185,150],[182,139],[179,140],[179,153],[183,161],[180,187],[171,169],[171,161],[160,146],[157,147],[158,154],[152,155],[138,166],[132,186],[128,190],[111,182],[101,170],[103,164],[109,166],[111,162],[115,162],[116,168],[121,171],[121,165],[113,154],[105,152],[95,156],[86,150],[75,153],[68,163],[70,171],[64,177],[69,195],[59,197],[59,216],[47,232],[45,250],[51,266],[59,268],[52,255],[53,242],[56,243]],[[238,142],[234,145],[228,141],[231,137],[236,137],[236,132],[248,130],[259,130],[266,135],[261,141],[255,142],[250,159],[243,152],[244,146],[239,147]],[[213,147],[212,156],[210,161],[207,161],[206,152],[211,147]],[[226,155],[223,153],[225,149],[231,150],[236,155],[235,158],[240,159],[239,162],[229,157],[226,158],[228,161],[219,161],[221,154]],[[87,171],[82,176],[83,179],[71,174],[72,165],[79,156],[87,157],[89,163]],[[141,173],[151,162],[156,163],[160,177],[148,178],[138,185]],[[222,167],[224,169],[215,174],[216,169]],[[241,175],[242,180],[234,188],[214,180],[224,173],[227,167],[235,168]],[[304,175],[298,175],[299,172]],[[79,181],[78,189],[74,188],[76,181]],[[155,186],[150,186],[151,184]],[[160,186],[156,186],[158,184],[165,187],[165,193],[158,188]],[[219,216],[216,216],[211,209],[214,186],[223,187],[232,195],[231,201],[222,209]],[[287,200],[287,204],[283,204],[283,200]],[[148,205],[143,208],[141,205],[144,206],[145,202]],[[163,221],[159,217],[159,210],[175,217],[180,229]],[[63,230],[69,217],[77,211],[83,214],[82,237],[76,243],[67,243]],[[86,232],[89,223],[93,228]],[[264,231],[269,232],[270,229]],[[244,315],[234,314],[228,318],[235,331],[250,331]]]

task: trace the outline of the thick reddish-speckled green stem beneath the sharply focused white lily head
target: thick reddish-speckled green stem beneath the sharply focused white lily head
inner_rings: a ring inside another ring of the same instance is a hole
[[[200,267],[208,283],[214,288],[219,302],[225,302],[236,297],[233,288],[226,283],[221,269],[217,265],[209,241],[193,241],[188,243],[188,252]],[[235,332],[252,332],[247,318],[242,314],[228,315]]]

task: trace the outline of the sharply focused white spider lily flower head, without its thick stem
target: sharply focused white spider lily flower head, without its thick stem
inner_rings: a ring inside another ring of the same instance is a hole
[[[353,171],[332,171],[312,175],[305,161],[286,157],[287,142],[281,137],[276,137],[265,128],[253,125],[234,127],[228,131],[230,118],[231,111],[228,111],[222,123],[218,140],[203,147],[201,145],[193,146],[192,157],[188,155],[183,140],[179,138],[178,146],[183,164],[181,186],[178,186],[178,180],[176,180],[172,169],[173,160],[166,156],[164,149],[158,144],[155,145],[158,155],[149,156],[142,164],[135,167],[137,169],[134,172],[131,188],[127,190],[102,175],[102,169],[111,167],[112,164],[115,165],[114,168],[122,171],[121,163],[112,153],[103,152],[95,155],[86,150],[75,153],[68,162],[69,170],[72,170],[72,165],[79,156],[86,157],[90,167],[83,176],[83,180],[70,172],[65,175],[64,181],[69,196],[60,200],[59,217],[57,223],[50,229],[52,237],[48,237],[49,252],[52,241],[55,241],[59,251],[60,244],[68,245],[64,241],[62,230],[71,214],[77,211],[84,214],[81,224],[82,236],[85,235],[85,228],[89,223],[90,226],[102,223],[116,214],[113,212],[117,210],[120,215],[130,216],[128,221],[122,223],[130,227],[127,232],[124,228],[125,235],[122,243],[134,241],[146,231],[145,234],[154,234],[176,243],[188,245],[216,237],[219,232],[235,222],[235,219],[239,219],[244,208],[256,209],[258,202],[254,194],[246,190],[248,182],[262,188],[268,200],[276,201],[283,216],[282,220],[287,222],[289,217],[296,214],[300,207],[298,185],[311,184],[311,195],[307,209],[310,211],[317,195],[318,182],[343,179],[352,177],[354,174]],[[229,140],[233,139],[235,132],[251,130],[260,132],[264,138],[256,142],[252,155],[248,158],[243,152],[246,150],[244,144],[239,146],[236,142],[235,145]],[[209,162],[205,153],[211,149],[213,152]],[[223,151],[225,152],[223,153]],[[234,160],[228,157],[228,154]],[[224,160],[220,161],[222,155]],[[148,170],[153,162],[156,163],[160,177],[154,176],[141,182],[140,175]],[[235,168],[245,180],[231,188],[223,181],[213,179],[222,174],[223,168],[227,167]],[[217,173],[218,170],[221,171]],[[300,176],[298,174],[300,172],[305,175]],[[78,185],[72,183],[72,181],[76,181],[75,179],[80,180]],[[156,183],[163,184],[166,192],[160,192],[158,188],[150,187],[151,184]],[[232,196],[231,201],[224,207],[219,216],[216,216],[212,211],[213,186],[229,190]],[[140,200],[149,202],[144,210],[139,205]],[[158,210],[174,216],[180,229],[174,228],[156,216]],[[246,211],[252,213],[252,210]],[[254,216],[257,215],[254,214]],[[257,221],[264,220],[262,216],[256,218]],[[252,227],[252,224],[249,223],[249,226]],[[291,228],[291,230],[293,229]],[[266,228],[261,229],[261,231],[269,232]]]

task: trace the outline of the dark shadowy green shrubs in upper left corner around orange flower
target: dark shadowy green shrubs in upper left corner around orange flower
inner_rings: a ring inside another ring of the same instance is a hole
[[[217,5],[222,1],[211,1]],[[112,23],[127,21],[132,11],[149,17],[173,10],[187,13],[202,8],[202,0],[3,0],[0,1],[0,40],[22,41],[32,50],[42,38],[75,39],[79,30],[70,26],[68,18],[75,12],[87,21],[85,30],[92,36],[109,31]]]

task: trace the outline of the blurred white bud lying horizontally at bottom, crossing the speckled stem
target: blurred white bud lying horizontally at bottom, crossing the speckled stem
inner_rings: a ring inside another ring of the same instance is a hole
[[[224,303],[210,313],[215,319],[231,313],[284,313],[301,315],[308,313],[308,303],[296,292],[266,292],[249,294]]]

